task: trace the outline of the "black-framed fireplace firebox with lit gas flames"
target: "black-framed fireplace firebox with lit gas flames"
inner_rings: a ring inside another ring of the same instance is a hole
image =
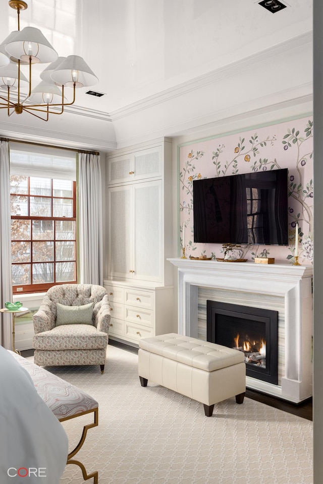
[[[278,384],[278,312],[207,301],[206,339],[243,351],[246,375]]]

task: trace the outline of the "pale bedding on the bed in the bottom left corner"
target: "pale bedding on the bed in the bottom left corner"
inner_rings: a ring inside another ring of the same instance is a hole
[[[0,346],[1,484],[59,484],[67,455],[63,426],[26,370]]]

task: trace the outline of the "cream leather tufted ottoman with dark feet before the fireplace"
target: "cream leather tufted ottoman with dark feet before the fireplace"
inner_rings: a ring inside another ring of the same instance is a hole
[[[246,391],[244,353],[176,333],[139,341],[138,373],[141,386],[148,380],[204,404],[206,416],[214,404]]]

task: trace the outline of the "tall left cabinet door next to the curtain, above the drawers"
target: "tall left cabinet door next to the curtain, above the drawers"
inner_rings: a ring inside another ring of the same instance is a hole
[[[112,277],[131,278],[133,267],[132,186],[109,189],[109,272]]]

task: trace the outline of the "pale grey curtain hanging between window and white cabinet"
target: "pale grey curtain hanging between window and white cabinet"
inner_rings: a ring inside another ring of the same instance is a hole
[[[103,285],[103,220],[99,155],[79,153],[76,183],[78,282]]]

